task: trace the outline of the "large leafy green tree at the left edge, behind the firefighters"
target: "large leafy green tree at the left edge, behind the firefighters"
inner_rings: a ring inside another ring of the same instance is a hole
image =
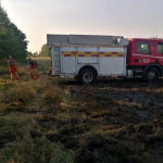
[[[27,42],[26,35],[10,21],[8,13],[0,4],[0,64],[7,64],[9,55],[25,61]]]

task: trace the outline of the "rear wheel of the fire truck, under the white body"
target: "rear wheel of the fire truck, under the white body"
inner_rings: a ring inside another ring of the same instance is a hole
[[[79,74],[80,84],[93,84],[96,82],[97,75],[95,71],[90,68],[83,70]]]

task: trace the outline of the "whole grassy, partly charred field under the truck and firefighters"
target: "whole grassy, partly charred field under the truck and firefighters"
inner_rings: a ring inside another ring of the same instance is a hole
[[[41,63],[39,63],[40,65]],[[163,80],[92,86],[1,72],[0,162],[163,162]]]

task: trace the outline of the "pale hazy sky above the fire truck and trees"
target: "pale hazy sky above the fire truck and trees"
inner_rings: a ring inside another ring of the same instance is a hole
[[[1,0],[28,50],[40,51],[47,34],[163,37],[163,0]]]

